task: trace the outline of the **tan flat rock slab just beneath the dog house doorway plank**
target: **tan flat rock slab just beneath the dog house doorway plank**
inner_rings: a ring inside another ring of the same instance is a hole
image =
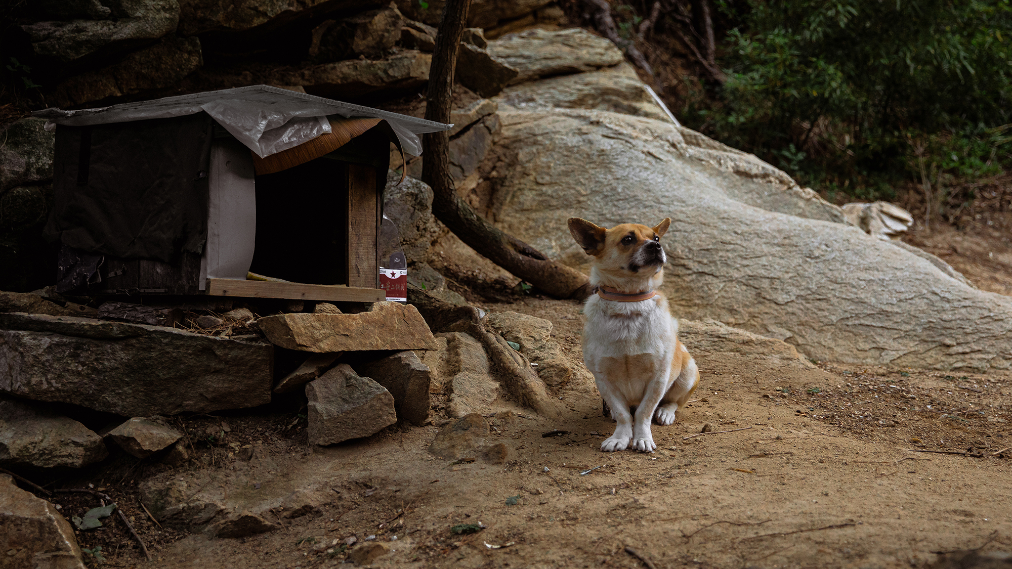
[[[435,338],[418,309],[375,303],[359,314],[278,314],[257,320],[276,346],[304,351],[436,349]]]

